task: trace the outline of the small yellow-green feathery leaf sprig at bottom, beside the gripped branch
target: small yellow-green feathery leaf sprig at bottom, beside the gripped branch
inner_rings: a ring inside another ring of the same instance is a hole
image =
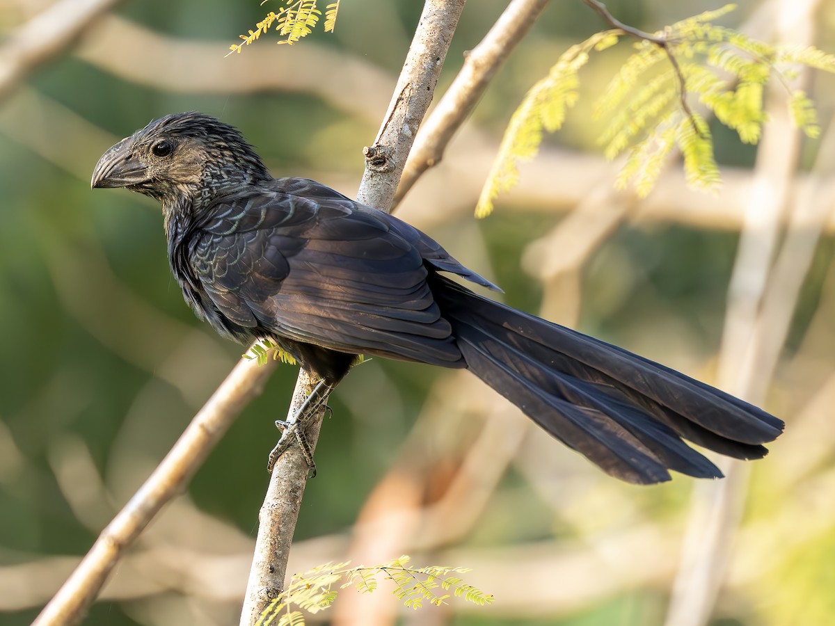
[[[382,565],[357,568],[348,567],[348,562],[326,563],[309,572],[296,574],[284,593],[261,613],[256,626],[303,626],[304,615],[294,607],[308,613],[318,613],[331,606],[337,599],[339,589],[354,587],[361,593],[375,591],[377,577],[380,576],[394,583],[392,593],[407,608],[421,608],[424,602],[440,606],[453,596],[480,606],[493,602],[492,595],[483,593],[453,575],[466,573],[468,569],[438,566],[415,568],[409,561],[409,557],[402,556]],[[439,591],[451,593],[439,594]]]

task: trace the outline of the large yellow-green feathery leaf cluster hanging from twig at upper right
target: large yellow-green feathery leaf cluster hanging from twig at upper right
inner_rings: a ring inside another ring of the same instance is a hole
[[[476,215],[488,215],[498,194],[517,183],[519,162],[534,158],[544,131],[562,126],[567,109],[579,98],[579,69],[590,53],[610,48],[626,35],[639,38],[635,52],[595,105],[595,116],[608,119],[599,139],[606,158],[628,151],[616,181],[619,187],[632,184],[638,195],[649,194],[678,149],[687,183],[696,189],[716,189],[721,178],[710,130],[691,106],[698,104],[713,114],[743,143],[756,144],[767,121],[763,98],[772,77],[790,93],[794,123],[807,136],[817,137],[820,128],[812,100],[791,88],[787,78],[797,65],[835,72],[835,56],[812,46],[772,46],[713,23],[734,8],[728,4],[651,35],[615,28],[569,48],[511,117]]]

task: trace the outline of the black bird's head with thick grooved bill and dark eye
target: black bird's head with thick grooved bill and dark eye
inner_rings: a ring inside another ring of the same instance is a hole
[[[91,186],[126,187],[167,205],[200,206],[243,184],[269,179],[238,129],[209,115],[156,119],[102,154]]]

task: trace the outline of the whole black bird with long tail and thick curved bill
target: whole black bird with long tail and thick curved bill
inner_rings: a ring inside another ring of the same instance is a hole
[[[172,114],[104,153],[93,187],[162,204],[171,270],[220,335],[271,338],[327,389],[357,354],[467,368],[534,422],[628,482],[721,477],[682,437],[763,457],[783,422],[617,346],[488,300],[498,287],[392,215],[300,178],[274,179],[240,132]]]

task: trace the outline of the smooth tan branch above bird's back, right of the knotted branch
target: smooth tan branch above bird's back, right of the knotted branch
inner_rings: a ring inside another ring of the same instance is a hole
[[[412,189],[423,172],[441,161],[453,134],[472,113],[498,68],[528,33],[547,3],[548,0],[513,0],[493,28],[467,54],[453,83],[417,133],[394,196],[394,206]]]

